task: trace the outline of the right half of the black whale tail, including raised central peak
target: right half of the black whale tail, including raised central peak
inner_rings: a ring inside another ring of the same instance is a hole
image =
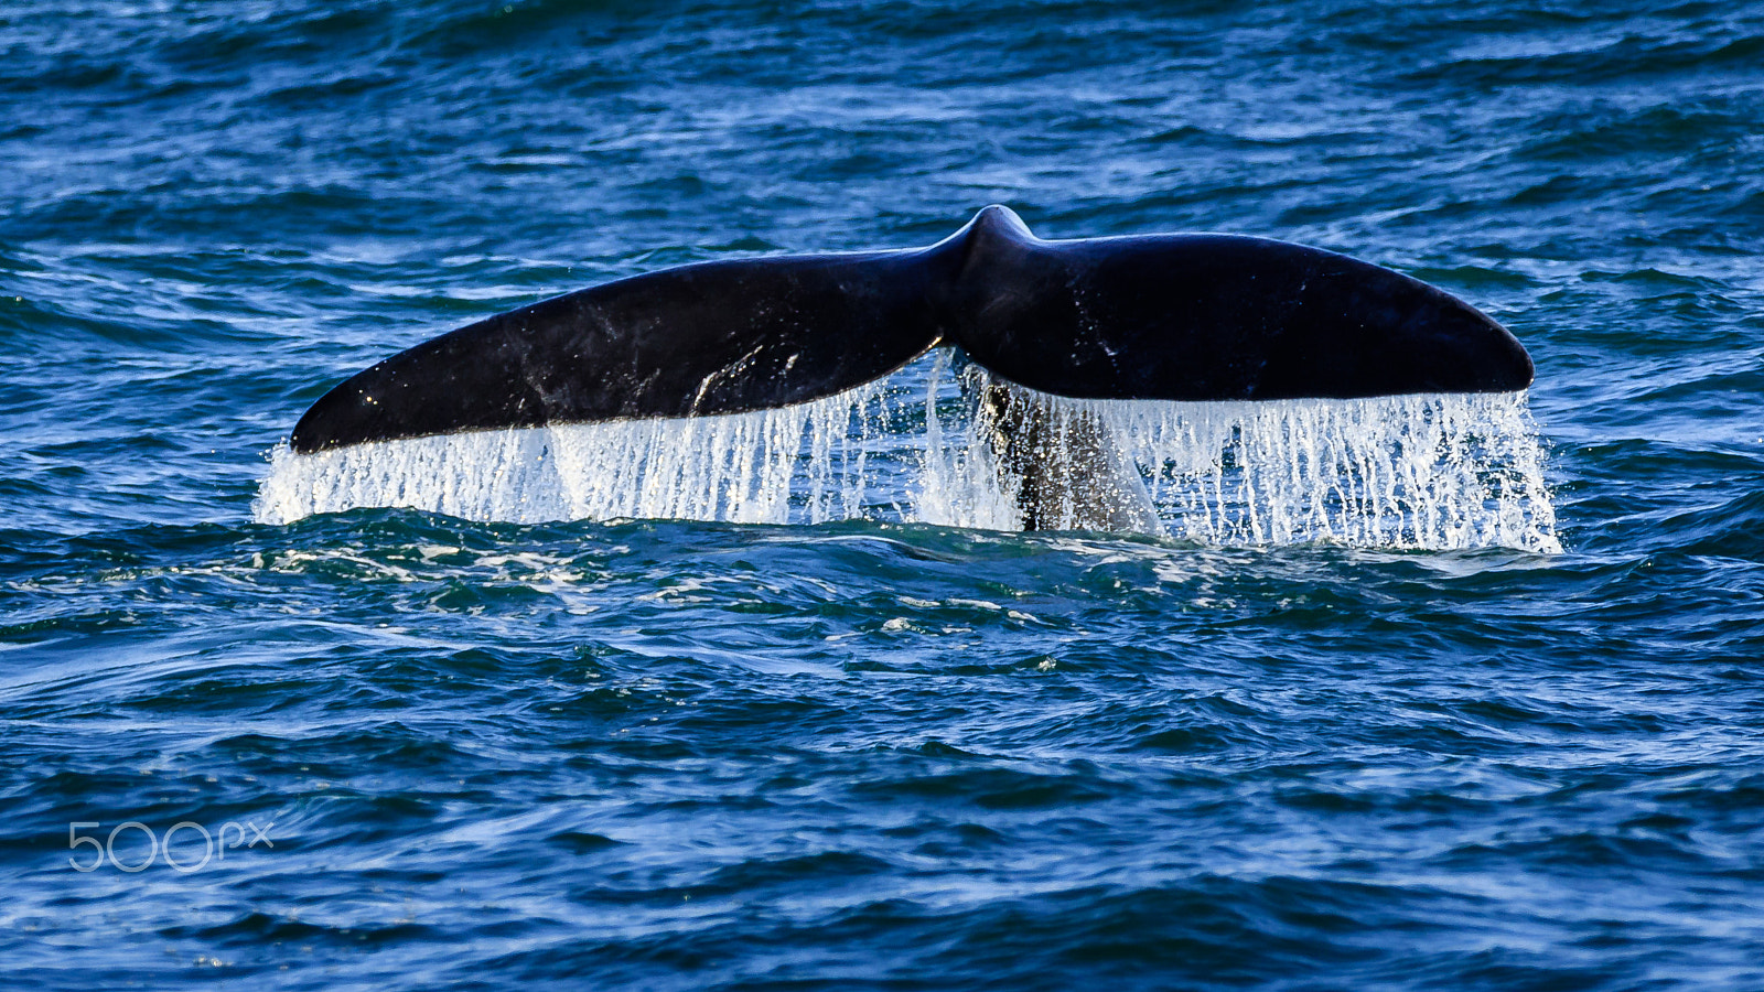
[[[968,237],[947,337],[1043,392],[1219,401],[1531,385],[1529,355],[1494,319],[1335,252],[1231,235],[1043,242],[997,214]]]

